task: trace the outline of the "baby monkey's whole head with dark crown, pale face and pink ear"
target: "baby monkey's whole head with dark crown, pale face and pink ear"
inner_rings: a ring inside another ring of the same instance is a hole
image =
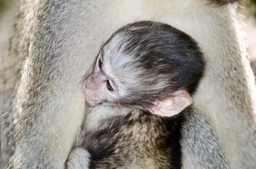
[[[163,23],[129,24],[99,51],[85,82],[86,101],[175,115],[192,104],[203,67],[202,52],[189,35]]]

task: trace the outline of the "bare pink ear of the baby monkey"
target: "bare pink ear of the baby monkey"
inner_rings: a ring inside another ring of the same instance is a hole
[[[172,116],[180,113],[183,109],[193,103],[192,98],[185,90],[173,93],[173,96],[164,100],[158,100],[150,112],[161,116]]]

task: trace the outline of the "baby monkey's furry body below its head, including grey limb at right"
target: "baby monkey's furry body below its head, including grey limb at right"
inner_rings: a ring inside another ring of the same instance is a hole
[[[84,128],[84,143],[71,151],[67,169],[229,168],[211,127],[191,107],[160,117],[140,109],[97,106]],[[81,147],[90,158],[82,159]]]

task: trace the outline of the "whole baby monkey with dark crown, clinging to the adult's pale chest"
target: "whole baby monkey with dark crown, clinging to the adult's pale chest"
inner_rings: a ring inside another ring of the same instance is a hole
[[[96,107],[67,168],[228,168],[189,106],[204,65],[197,43],[170,25],[141,21],[112,34],[85,81]]]

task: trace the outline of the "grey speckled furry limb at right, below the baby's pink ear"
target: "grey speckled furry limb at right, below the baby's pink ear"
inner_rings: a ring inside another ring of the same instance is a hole
[[[229,168],[206,119],[196,110],[185,114],[181,147],[183,168]]]

